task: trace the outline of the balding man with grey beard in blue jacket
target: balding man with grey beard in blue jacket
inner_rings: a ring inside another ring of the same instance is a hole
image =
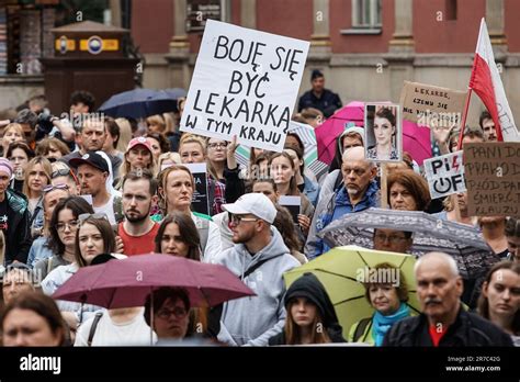
[[[317,233],[346,214],[380,204],[380,190],[375,182],[377,168],[364,158],[363,147],[352,147],[343,153],[341,175],[343,184],[339,189],[321,188],[305,245],[305,255],[308,258],[329,250]]]

